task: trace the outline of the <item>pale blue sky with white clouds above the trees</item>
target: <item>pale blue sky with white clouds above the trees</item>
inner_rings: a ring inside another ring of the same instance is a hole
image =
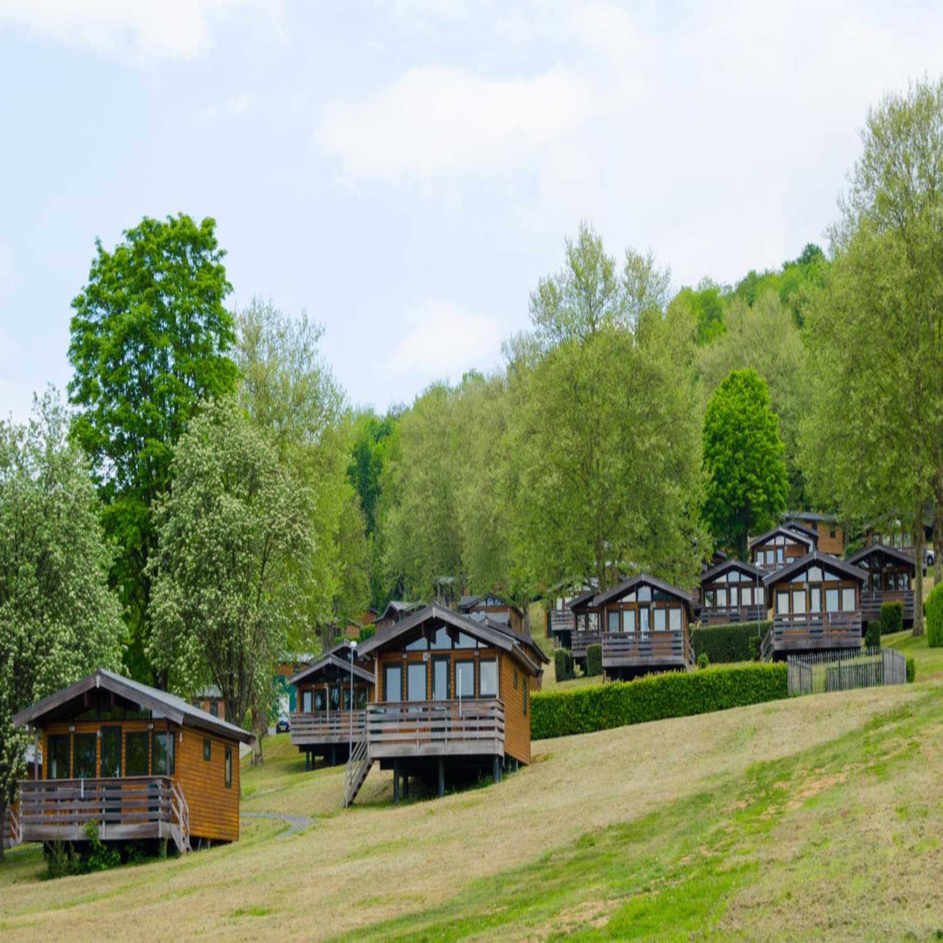
[[[0,415],[64,388],[99,237],[212,216],[232,304],[354,403],[500,362],[586,220],[676,287],[823,241],[943,5],[0,0]]]

